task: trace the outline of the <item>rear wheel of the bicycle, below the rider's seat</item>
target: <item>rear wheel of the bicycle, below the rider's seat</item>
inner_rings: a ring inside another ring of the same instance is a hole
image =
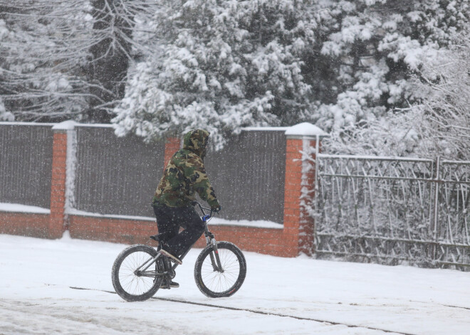
[[[138,255],[137,252],[139,252]],[[157,250],[149,245],[137,244],[125,248],[117,255],[111,278],[116,293],[122,299],[128,302],[142,302],[153,297],[160,289],[163,277],[140,277],[134,273],[146,260],[157,254]],[[152,265],[152,268],[156,270],[157,265]]]

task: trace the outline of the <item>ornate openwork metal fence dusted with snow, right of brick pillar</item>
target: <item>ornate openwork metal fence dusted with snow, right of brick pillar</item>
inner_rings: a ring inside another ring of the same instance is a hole
[[[318,154],[316,252],[470,266],[470,162]]]

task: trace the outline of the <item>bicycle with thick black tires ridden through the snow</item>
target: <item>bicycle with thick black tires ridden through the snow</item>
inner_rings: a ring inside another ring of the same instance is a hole
[[[197,201],[192,204],[198,205],[202,211],[207,243],[194,265],[196,285],[207,297],[231,297],[245,280],[245,257],[236,245],[226,241],[217,242],[214,234],[209,231],[207,223],[214,217],[214,212],[210,208],[202,207]],[[211,212],[206,214],[204,210]],[[160,242],[159,235],[150,238]],[[191,249],[192,247],[189,248]],[[181,260],[189,250],[180,257]],[[113,287],[115,292],[128,302],[145,301],[153,297],[160,287],[169,289],[177,266],[177,263],[172,264],[169,257],[150,245],[131,245],[116,257],[111,275]]]

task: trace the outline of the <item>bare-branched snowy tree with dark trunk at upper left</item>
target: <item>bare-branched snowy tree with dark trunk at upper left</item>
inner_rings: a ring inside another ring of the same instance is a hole
[[[152,53],[154,0],[0,0],[0,95],[17,119],[106,122],[128,63]],[[135,36],[135,37],[134,37]]]

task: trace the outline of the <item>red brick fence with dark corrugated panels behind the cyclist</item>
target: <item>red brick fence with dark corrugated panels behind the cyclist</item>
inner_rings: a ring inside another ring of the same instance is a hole
[[[211,227],[219,239],[271,255],[311,252],[313,223],[301,208],[310,176],[301,151],[315,146],[317,131],[311,124],[244,129],[208,152],[206,169],[224,210]],[[147,145],[115,137],[110,125],[0,122],[0,144],[0,233],[60,238],[69,230],[73,238],[151,243],[150,201],[181,139]]]

